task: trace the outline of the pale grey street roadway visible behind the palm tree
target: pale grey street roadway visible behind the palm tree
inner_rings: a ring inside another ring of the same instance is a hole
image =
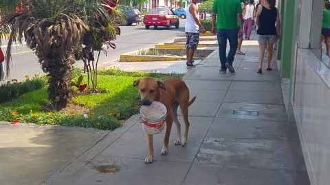
[[[115,64],[120,58],[120,54],[128,53],[138,49],[144,49],[147,47],[153,47],[159,42],[173,41],[175,38],[185,36],[184,24],[186,20],[180,19],[179,29],[166,29],[165,27],[159,27],[158,29],[145,29],[144,25],[121,26],[121,36],[118,36],[113,42],[117,46],[116,49],[107,49],[104,45],[104,49],[107,50],[107,55],[103,52],[100,55],[100,61],[98,68],[111,66]],[[6,51],[7,42],[4,40],[1,49]],[[97,56],[97,54],[96,54]],[[78,61],[76,66],[83,67],[83,62]],[[9,79],[25,79],[25,75],[32,76],[34,73],[43,74],[40,68],[38,58],[32,50],[23,45],[17,43],[12,47],[12,68]],[[6,79],[8,80],[8,79]]]

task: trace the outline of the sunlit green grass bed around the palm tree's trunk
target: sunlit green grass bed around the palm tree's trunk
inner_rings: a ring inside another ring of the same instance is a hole
[[[78,71],[75,71],[76,79]],[[102,130],[114,130],[121,121],[129,119],[139,112],[140,101],[137,88],[133,82],[142,77],[166,79],[181,78],[182,74],[162,75],[157,73],[124,72],[115,69],[101,70],[98,75],[98,94],[77,94],[73,103],[87,108],[88,118],[84,114],[67,114],[62,112],[45,112],[45,106],[50,104],[47,87],[34,90],[5,103],[0,103],[0,121],[16,121],[36,123],[40,125],[67,125],[79,127],[96,127]],[[87,77],[84,76],[83,83]]]

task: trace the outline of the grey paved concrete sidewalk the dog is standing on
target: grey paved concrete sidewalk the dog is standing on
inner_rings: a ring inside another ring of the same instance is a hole
[[[277,66],[260,75],[256,41],[242,49],[235,74],[219,73],[218,51],[186,73],[197,95],[186,147],[174,145],[173,127],[168,155],[160,154],[164,133],[155,135],[154,162],[144,164],[147,138],[135,115],[45,184],[309,184]]]

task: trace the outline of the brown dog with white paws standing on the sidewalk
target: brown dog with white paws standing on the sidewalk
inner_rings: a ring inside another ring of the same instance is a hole
[[[136,80],[133,83],[133,86],[138,86],[139,88],[142,105],[150,106],[153,101],[159,101],[166,106],[166,133],[164,137],[162,155],[168,153],[168,141],[170,138],[170,130],[172,129],[173,121],[175,122],[175,125],[177,125],[177,139],[175,140],[175,145],[186,145],[189,130],[188,107],[195,101],[196,97],[193,97],[189,101],[189,88],[184,81],[178,78],[171,78],[160,82],[153,77],[145,77],[144,79]],[[186,124],[186,130],[182,140],[181,125],[177,119],[177,108],[179,106],[181,109],[181,114],[184,117],[184,123]],[[146,164],[153,162],[153,135],[148,134],[148,145],[148,156],[146,156],[146,160],[144,160]]]

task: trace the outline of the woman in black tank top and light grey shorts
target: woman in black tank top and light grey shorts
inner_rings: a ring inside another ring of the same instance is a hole
[[[267,47],[267,71],[272,71],[273,48],[276,40],[280,38],[280,15],[275,7],[276,0],[265,0],[265,4],[256,12],[256,23],[259,29],[259,68],[257,73],[263,73],[263,57]]]

